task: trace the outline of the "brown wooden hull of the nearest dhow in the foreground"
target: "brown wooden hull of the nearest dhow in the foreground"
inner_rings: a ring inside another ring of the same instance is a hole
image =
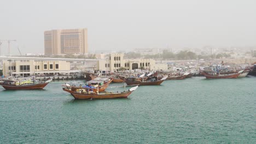
[[[65,88],[63,88],[66,91]],[[99,94],[85,94],[72,92],[72,96],[75,99],[114,99],[114,98],[127,98],[132,92],[122,92],[122,93],[99,93]]]

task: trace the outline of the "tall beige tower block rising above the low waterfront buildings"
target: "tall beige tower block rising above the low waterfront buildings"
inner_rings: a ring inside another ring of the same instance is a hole
[[[61,29],[44,32],[44,54],[88,53],[87,28]]]

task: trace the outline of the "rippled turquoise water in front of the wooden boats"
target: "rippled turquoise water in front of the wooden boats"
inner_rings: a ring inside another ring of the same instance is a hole
[[[1,89],[0,143],[256,143],[256,77],[165,81],[104,100],[74,100],[61,85]]]

